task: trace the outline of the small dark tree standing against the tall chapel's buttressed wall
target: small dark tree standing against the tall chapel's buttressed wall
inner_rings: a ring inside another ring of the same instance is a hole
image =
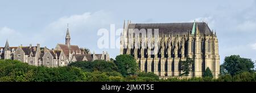
[[[180,76],[188,76],[189,72],[192,70],[193,64],[194,60],[189,57],[187,57],[185,61],[180,61],[180,70],[184,72]]]

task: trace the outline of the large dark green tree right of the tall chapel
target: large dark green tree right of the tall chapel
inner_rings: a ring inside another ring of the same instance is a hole
[[[240,55],[226,56],[223,67],[231,76],[241,72],[254,72],[254,62]]]

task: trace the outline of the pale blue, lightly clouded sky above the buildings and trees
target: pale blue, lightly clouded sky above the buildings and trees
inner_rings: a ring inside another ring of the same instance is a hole
[[[131,23],[175,23],[205,21],[216,30],[220,63],[225,56],[240,55],[256,60],[256,1],[193,0],[193,1],[0,1],[0,46],[8,39],[10,46],[55,48],[65,43],[69,24],[71,44],[89,48],[110,57],[119,55],[119,48],[98,48],[97,32],[123,28]],[[118,39],[118,35],[115,36]]]

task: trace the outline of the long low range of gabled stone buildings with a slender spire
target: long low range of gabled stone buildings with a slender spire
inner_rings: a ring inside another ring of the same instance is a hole
[[[5,47],[0,47],[0,59],[19,60],[30,65],[44,65],[46,67],[63,67],[75,61],[109,61],[108,53],[103,54],[86,54],[84,48],[77,45],[71,45],[69,29],[65,37],[65,45],[58,43],[55,49],[49,50],[47,47],[37,46],[18,46],[9,47],[6,41]]]

